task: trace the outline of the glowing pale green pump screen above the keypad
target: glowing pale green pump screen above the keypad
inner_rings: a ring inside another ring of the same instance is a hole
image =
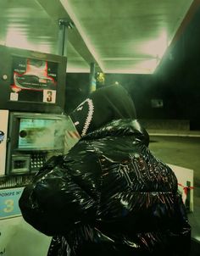
[[[62,148],[63,135],[59,120],[21,118],[19,120],[19,149],[55,150]]]

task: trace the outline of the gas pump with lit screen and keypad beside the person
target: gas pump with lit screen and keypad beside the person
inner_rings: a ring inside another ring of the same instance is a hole
[[[47,159],[79,139],[64,114],[67,59],[4,46],[0,55],[0,254],[42,256],[51,237],[25,223],[18,202]]]

